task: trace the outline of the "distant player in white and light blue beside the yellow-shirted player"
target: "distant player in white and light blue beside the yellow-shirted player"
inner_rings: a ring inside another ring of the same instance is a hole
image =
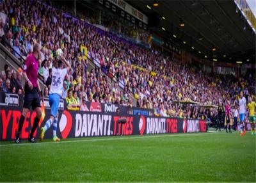
[[[240,92],[240,99],[239,99],[239,119],[241,123],[241,136],[244,136],[246,131],[245,131],[245,123],[244,123],[244,118],[245,118],[245,112],[246,112],[246,99],[244,98],[244,93],[243,91]]]

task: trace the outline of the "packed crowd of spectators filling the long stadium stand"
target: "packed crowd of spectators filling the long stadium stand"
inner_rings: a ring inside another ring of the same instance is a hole
[[[110,102],[155,109],[159,116],[198,117],[199,107],[180,106],[175,101],[196,101],[219,105],[224,100],[237,104],[240,90],[255,95],[255,76],[208,74],[193,65],[175,60],[170,54],[145,49],[104,32],[40,1],[4,1],[1,6],[2,42],[20,59],[41,49],[39,74],[44,78],[45,97],[51,88],[51,68],[58,48],[72,65],[63,84],[68,109],[84,109],[83,102]],[[4,20],[3,20],[4,19]],[[88,49],[83,55],[81,47]],[[11,50],[11,49],[10,49]],[[88,70],[92,60],[98,67]],[[108,81],[112,77],[114,86]],[[0,90],[22,93],[22,72],[1,72]],[[246,79],[245,79],[246,78]],[[216,113],[211,109],[208,113]]]

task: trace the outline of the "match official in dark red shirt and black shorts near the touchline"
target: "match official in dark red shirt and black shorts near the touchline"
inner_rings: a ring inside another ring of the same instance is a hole
[[[17,134],[15,136],[15,143],[20,143],[20,132],[22,130],[22,126],[24,123],[24,120],[30,110],[30,107],[32,107],[33,111],[36,112],[36,117],[34,119],[33,127],[31,129],[31,132],[28,137],[28,141],[31,143],[35,143],[35,138],[33,136],[36,127],[39,123],[39,120],[42,115],[41,110],[41,99],[38,93],[42,96],[41,88],[38,82],[38,58],[40,56],[40,45],[35,44],[33,46],[33,54],[29,55],[26,58],[26,62],[23,69],[23,76],[26,79],[25,84],[25,96],[24,96],[24,104],[23,104],[23,110],[22,115],[20,116],[19,120],[19,127]]]

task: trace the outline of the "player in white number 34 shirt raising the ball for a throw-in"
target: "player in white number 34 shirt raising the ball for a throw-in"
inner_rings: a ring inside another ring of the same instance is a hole
[[[67,74],[67,71],[70,70],[70,64],[63,56],[60,56],[61,60],[65,63],[67,68],[63,68],[62,61],[56,61],[54,67],[52,67],[52,83],[49,95],[49,104],[51,106],[51,117],[45,123],[45,126],[41,128],[41,141],[44,139],[44,134],[53,123],[53,140],[60,141],[60,138],[56,135],[57,131],[57,122],[58,122],[58,108],[60,104],[60,98],[63,90],[63,80]]]

